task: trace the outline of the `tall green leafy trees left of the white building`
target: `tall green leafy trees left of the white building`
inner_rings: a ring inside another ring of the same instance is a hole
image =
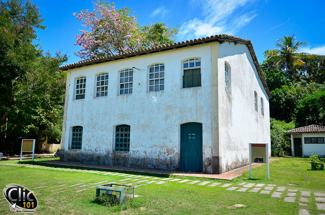
[[[22,138],[57,142],[62,125],[66,73],[53,57],[34,45],[41,25],[39,9],[29,1],[0,2],[0,151],[17,153]],[[53,140],[53,141],[54,141]]]

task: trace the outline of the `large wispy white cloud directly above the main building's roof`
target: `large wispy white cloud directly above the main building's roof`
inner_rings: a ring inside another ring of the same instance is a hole
[[[243,14],[235,11],[255,0],[205,0],[201,1],[202,18],[193,18],[181,24],[178,40],[189,40],[215,34],[235,34],[247,25],[256,11]]]

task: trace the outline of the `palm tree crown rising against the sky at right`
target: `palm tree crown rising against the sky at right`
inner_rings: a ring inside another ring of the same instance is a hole
[[[297,53],[303,46],[307,45],[307,42],[296,42],[296,34],[291,36],[284,36],[278,39],[276,47],[278,49],[272,50],[272,60],[274,60],[275,66],[280,66],[285,69],[285,79],[287,79],[287,73],[290,72],[295,78],[295,66],[305,64],[300,59],[306,53]]]

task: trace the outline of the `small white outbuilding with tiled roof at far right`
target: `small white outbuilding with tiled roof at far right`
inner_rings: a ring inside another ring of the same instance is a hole
[[[308,125],[285,131],[291,135],[293,157],[325,157],[325,126]]]

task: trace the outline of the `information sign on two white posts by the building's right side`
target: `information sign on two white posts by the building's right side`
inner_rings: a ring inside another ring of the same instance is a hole
[[[270,179],[269,144],[249,144],[249,178],[252,178],[252,163],[266,163]]]

